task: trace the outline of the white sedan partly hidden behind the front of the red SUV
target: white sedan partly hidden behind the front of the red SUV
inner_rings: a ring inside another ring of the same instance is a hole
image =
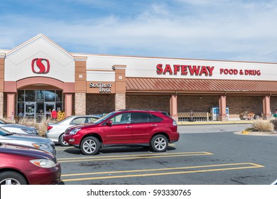
[[[54,141],[60,146],[70,146],[63,139],[63,134],[65,134],[65,130],[68,127],[72,127],[78,124],[90,124],[99,119],[98,116],[92,115],[75,115],[71,117],[67,117],[58,123],[49,123],[47,127],[47,132],[45,133],[45,137]]]

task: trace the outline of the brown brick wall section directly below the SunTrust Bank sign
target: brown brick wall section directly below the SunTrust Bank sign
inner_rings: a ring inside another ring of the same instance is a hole
[[[87,94],[86,114],[102,114],[114,112],[114,95]]]

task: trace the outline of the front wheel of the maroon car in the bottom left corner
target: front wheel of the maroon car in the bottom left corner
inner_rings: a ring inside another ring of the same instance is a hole
[[[19,173],[4,171],[0,173],[0,185],[27,185],[27,181]]]

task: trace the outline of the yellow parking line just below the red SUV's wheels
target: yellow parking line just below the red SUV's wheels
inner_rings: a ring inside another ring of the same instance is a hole
[[[167,154],[139,154],[139,155],[121,155],[121,156],[93,156],[82,158],[58,158],[59,163],[65,162],[80,162],[80,161],[110,161],[110,160],[124,160],[124,159],[140,159],[140,158],[167,158],[167,157],[180,157],[180,156],[207,156],[213,155],[210,152],[180,152],[180,153],[167,153]]]

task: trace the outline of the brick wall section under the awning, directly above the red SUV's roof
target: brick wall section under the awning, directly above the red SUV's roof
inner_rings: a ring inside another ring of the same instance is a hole
[[[126,109],[154,109],[170,112],[170,95],[126,95]]]

